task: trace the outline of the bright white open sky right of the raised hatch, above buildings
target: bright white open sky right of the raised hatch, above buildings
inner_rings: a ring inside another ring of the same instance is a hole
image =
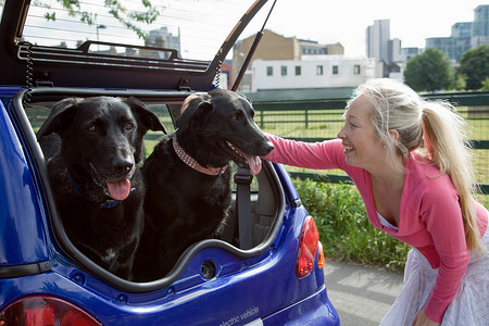
[[[271,0],[272,1],[272,0]],[[285,37],[340,42],[347,55],[365,54],[365,30],[375,20],[390,20],[390,38],[401,46],[425,47],[425,38],[448,37],[451,26],[474,21],[475,0],[277,0],[266,24]]]

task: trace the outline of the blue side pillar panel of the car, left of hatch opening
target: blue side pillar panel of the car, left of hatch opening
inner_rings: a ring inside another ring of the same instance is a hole
[[[5,106],[0,106],[0,266],[46,261],[38,191]]]

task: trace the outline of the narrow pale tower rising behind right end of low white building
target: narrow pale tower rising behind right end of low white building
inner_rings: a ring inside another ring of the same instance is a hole
[[[366,28],[365,49],[367,58],[389,62],[390,20],[376,20]]]

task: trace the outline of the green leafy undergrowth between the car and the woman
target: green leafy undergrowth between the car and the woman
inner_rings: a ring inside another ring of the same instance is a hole
[[[371,225],[356,187],[299,178],[293,183],[316,222],[327,258],[404,271],[411,247]]]

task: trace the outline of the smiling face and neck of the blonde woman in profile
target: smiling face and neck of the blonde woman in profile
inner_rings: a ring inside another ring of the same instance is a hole
[[[384,141],[375,133],[371,117],[373,110],[364,96],[358,97],[350,103],[344,126],[338,133],[338,138],[343,142],[347,164],[367,171],[385,164],[387,152]]]

